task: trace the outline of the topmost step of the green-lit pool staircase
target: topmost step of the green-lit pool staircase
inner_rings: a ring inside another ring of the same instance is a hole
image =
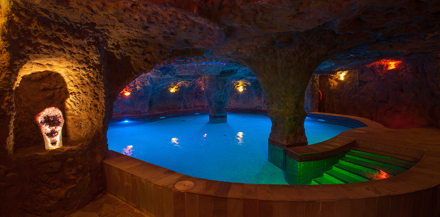
[[[415,165],[415,163],[412,163],[412,162],[399,160],[399,159],[391,158],[391,157],[380,156],[380,155],[371,154],[371,153],[360,152],[360,151],[356,151],[356,150],[352,150],[352,151],[348,152],[345,155],[345,157],[352,157],[352,158],[355,158],[358,160],[363,160],[363,161],[367,161],[370,163],[383,165],[385,167],[392,165],[392,166],[400,167],[400,168],[404,169],[405,171]]]

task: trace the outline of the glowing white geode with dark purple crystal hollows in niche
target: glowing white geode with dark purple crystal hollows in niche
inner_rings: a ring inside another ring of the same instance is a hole
[[[46,150],[62,146],[61,129],[64,119],[61,110],[57,107],[48,107],[35,116],[35,121],[43,133]]]

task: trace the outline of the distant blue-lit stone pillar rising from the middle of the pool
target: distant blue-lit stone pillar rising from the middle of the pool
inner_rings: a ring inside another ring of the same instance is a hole
[[[221,71],[220,75],[203,75],[203,87],[209,106],[209,122],[226,123],[226,103],[231,92],[231,75],[235,70]]]

